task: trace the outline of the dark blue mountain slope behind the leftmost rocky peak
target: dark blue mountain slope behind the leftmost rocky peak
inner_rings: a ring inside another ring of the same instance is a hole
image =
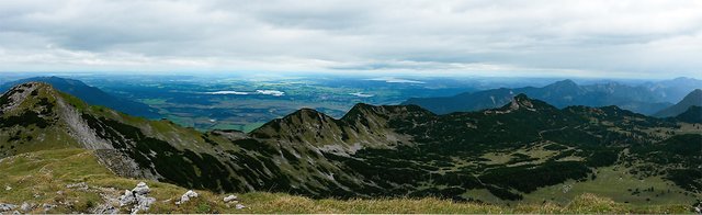
[[[158,110],[150,108],[144,103],[131,101],[123,98],[117,98],[109,94],[98,88],[87,86],[86,83],[67,78],[59,77],[35,77],[27,78],[18,81],[12,81],[0,86],[0,92],[4,92],[13,86],[25,82],[46,82],[54,88],[80,98],[82,101],[88,102],[91,105],[102,105],[110,109],[124,112],[134,116],[141,116],[147,118],[160,118],[161,115]]]

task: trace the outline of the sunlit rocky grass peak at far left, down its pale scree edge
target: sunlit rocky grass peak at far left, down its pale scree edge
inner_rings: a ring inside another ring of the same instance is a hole
[[[29,82],[10,89],[0,97],[0,155],[8,157],[22,152],[87,148],[101,150],[102,161],[129,177],[154,178],[133,159],[113,154],[111,142],[100,137],[81,115],[88,106],[53,89],[47,83]]]

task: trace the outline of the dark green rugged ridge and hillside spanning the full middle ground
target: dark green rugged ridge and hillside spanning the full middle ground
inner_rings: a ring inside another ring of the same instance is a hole
[[[37,82],[0,97],[0,111],[2,158],[83,148],[116,176],[213,192],[498,205],[565,205],[592,193],[641,207],[691,205],[702,190],[699,126],[525,94],[446,115],[358,104],[333,118],[305,109],[250,134],[132,117]]]

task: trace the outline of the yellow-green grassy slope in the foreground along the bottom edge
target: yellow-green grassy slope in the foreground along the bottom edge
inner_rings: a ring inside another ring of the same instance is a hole
[[[120,178],[98,163],[91,151],[83,149],[44,150],[22,154],[0,160],[0,203],[42,205],[57,204],[49,213],[90,213],[105,202],[103,196],[118,196],[138,180]],[[90,189],[68,189],[67,184],[86,182]],[[687,213],[686,205],[630,207],[591,194],[575,201],[555,204],[519,204],[499,206],[478,203],[454,203],[438,199],[381,200],[310,200],[280,193],[246,193],[239,195],[247,207],[235,210],[222,199],[227,194],[196,191],[201,197],[184,205],[173,204],[186,191],[168,183],[147,181],[150,196],[157,199],[149,213]],[[5,186],[12,188],[5,190]],[[61,191],[63,194],[57,193]],[[61,204],[69,203],[69,205]],[[113,202],[114,204],[114,202]],[[124,208],[126,210],[126,208]],[[43,213],[36,208],[34,213]],[[127,212],[127,211],[123,211]]]

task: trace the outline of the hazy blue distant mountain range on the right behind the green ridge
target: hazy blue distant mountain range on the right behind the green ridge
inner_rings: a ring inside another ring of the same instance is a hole
[[[437,114],[448,114],[499,108],[507,104],[516,94],[524,93],[530,98],[546,101],[556,108],[616,105],[624,110],[652,115],[672,105],[671,99],[682,98],[690,90],[701,86],[702,81],[688,78],[635,87],[616,82],[578,86],[571,80],[563,80],[543,88],[500,88],[466,92],[453,97],[412,98],[403,104],[416,104]],[[688,89],[680,95],[681,89],[684,88]],[[676,99],[673,102],[678,100]]]

